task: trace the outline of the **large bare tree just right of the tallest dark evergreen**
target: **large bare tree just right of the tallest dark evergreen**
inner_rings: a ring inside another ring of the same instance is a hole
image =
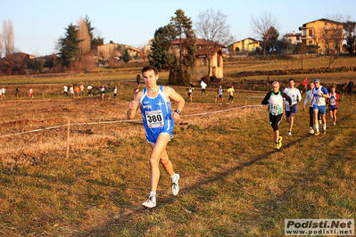
[[[215,12],[212,8],[199,12],[198,19],[195,21],[195,33],[203,39],[203,50],[208,61],[208,75],[211,74],[211,58],[219,52],[222,46],[228,45],[233,41],[230,35],[230,26],[227,24],[228,16],[220,10]],[[221,53],[221,52],[219,52]]]

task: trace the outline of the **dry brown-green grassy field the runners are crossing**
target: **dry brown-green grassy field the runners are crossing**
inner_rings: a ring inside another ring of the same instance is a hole
[[[100,85],[95,78],[101,76],[87,77],[93,78],[80,81]],[[65,125],[68,119],[126,119],[134,82],[108,76],[105,83],[120,85],[120,90],[116,100],[108,93],[102,101],[99,95],[64,98],[64,82],[55,80],[37,84],[37,91],[47,90],[44,100],[39,92],[35,100],[8,94],[0,102],[0,135]],[[26,91],[31,85],[18,86]],[[184,87],[175,88],[185,94]],[[183,115],[239,108],[246,102],[260,105],[265,94],[237,92],[235,102],[227,104],[214,103],[214,89],[208,93],[205,97],[196,91]],[[181,176],[180,192],[173,197],[170,177],[161,168],[153,210],[141,207],[149,192],[151,149],[139,116],[130,122],[70,126],[69,158],[65,126],[0,137],[0,235],[283,236],[286,218],[354,219],[353,100],[342,97],[336,126],[327,116],[327,134],[319,136],[308,135],[308,113],[300,102],[293,136],[286,136],[286,119],[282,121],[280,151],[273,150],[265,107],[183,117],[176,121],[168,147]]]

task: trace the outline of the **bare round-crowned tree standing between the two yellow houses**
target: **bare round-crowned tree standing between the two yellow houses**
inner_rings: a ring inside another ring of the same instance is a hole
[[[250,21],[251,29],[253,33],[260,37],[263,41],[263,56],[266,56],[266,45],[269,38],[272,37],[271,29],[277,29],[277,20],[272,16],[270,12],[262,12],[260,18],[251,17]]]

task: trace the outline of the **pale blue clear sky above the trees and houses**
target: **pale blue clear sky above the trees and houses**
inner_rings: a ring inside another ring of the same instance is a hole
[[[105,44],[112,40],[133,46],[147,44],[155,29],[167,25],[177,9],[186,12],[193,23],[199,12],[207,8],[221,10],[228,15],[230,31],[236,40],[256,37],[250,21],[262,11],[277,19],[280,36],[293,30],[299,32],[303,23],[329,15],[349,15],[356,20],[355,0],[0,0],[0,3],[0,20],[12,20],[16,50],[37,56],[56,53],[55,45],[64,36],[64,28],[70,22],[76,24],[86,14]]]

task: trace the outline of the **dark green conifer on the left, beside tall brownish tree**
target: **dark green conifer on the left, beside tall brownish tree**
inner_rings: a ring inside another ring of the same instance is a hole
[[[79,42],[78,39],[78,27],[70,23],[68,28],[65,29],[65,37],[59,39],[59,51],[58,53],[62,59],[62,65],[70,68],[73,62],[79,61]]]

